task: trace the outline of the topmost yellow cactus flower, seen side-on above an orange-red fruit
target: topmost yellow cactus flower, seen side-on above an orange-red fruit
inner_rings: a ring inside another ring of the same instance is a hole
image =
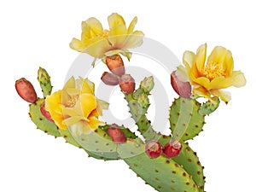
[[[143,44],[144,34],[141,31],[134,31],[136,24],[137,17],[134,17],[127,28],[121,15],[112,14],[108,16],[109,29],[103,30],[101,22],[91,17],[82,22],[81,40],[73,38],[70,47],[95,58],[118,53],[129,57],[128,49]]]

